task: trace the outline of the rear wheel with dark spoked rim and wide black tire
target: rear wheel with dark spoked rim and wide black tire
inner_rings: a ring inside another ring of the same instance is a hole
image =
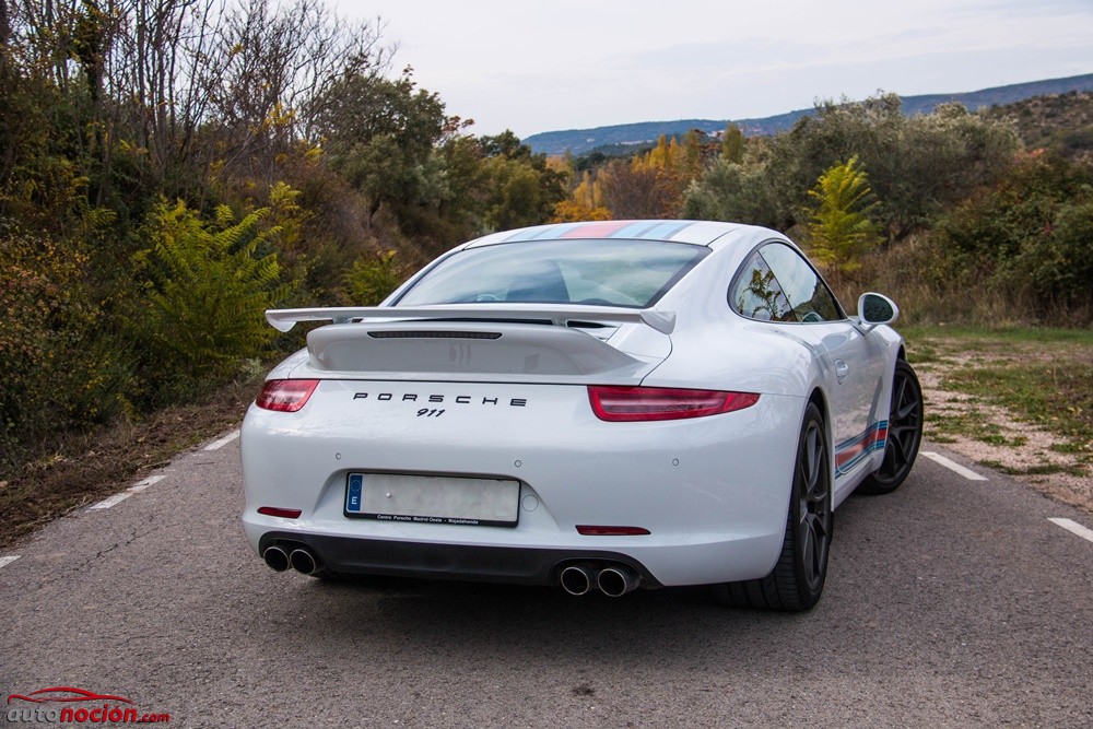
[[[797,444],[786,536],[766,577],[714,587],[715,597],[734,608],[803,611],[823,593],[834,529],[831,506],[831,449],[815,403],[804,410]]]

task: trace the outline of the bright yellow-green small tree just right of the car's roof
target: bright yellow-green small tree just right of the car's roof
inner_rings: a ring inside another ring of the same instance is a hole
[[[809,196],[816,200],[806,226],[812,258],[836,275],[861,268],[861,256],[881,242],[869,213],[877,208],[866,172],[857,156],[837,164],[816,180]]]

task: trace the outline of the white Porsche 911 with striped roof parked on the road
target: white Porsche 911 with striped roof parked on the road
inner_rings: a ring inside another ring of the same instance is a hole
[[[895,305],[848,316],[765,228],[626,221],[487,235],[330,321],[243,424],[247,537],[318,577],[714,585],[812,607],[833,513],[894,490],[922,397]]]

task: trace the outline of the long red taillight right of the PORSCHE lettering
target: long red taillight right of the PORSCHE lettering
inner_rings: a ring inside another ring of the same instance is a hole
[[[759,396],[724,390],[592,385],[588,388],[588,400],[597,418],[619,422],[717,415],[750,408],[759,402]]]

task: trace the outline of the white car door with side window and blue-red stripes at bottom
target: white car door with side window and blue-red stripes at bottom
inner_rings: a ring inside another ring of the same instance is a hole
[[[815,269],[794,248],[772,242],[757,251],[778,281],[792,310],[792,334],[819,356],[831,399],[835,475],[854,471],[885,431],[875,422],[883,357],[878,344],[854,326]]]

